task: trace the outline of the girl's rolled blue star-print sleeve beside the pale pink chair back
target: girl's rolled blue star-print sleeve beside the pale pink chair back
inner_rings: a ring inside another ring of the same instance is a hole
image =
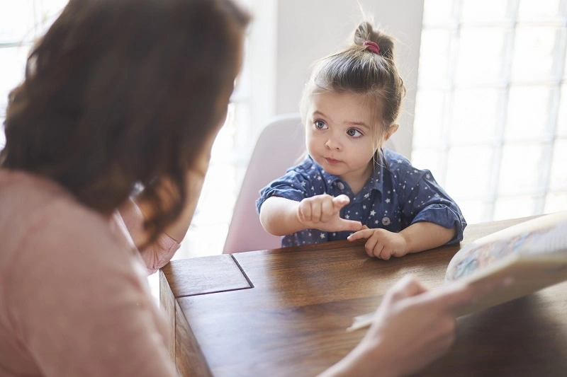
[[[260,197],[256,201],[256,209],[259,213],[262,204],[269,197],[283,197],[301,202],[306,197],[313,197],[313,195],[316,195],[315,187],[310,175],[303,171],[301,166],[291,168],[286,175],[271,181],[269,185],[260,190]]]

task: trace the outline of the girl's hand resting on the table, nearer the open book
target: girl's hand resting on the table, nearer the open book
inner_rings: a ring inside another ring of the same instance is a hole
[[[408,253],[408,242],[400,233],[393,233],[381,228],[363,228],[351,234],[347,240],[367,238],[364,249],[369,257],[388,260],[390,257],[403,257]]]

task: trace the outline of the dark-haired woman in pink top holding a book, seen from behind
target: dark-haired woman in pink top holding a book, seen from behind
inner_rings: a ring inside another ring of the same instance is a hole
[[[176,374],[144,267],[189,226],[248,21],[230,0],[71,0],[35,45],[0,153],[0,376]],[[470,299],[403,280],[324,374],[419,369]]]

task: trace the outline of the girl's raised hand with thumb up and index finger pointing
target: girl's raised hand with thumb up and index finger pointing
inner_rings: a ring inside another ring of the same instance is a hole
[[[360,221],[342,219],[339,214],[342,207],[349,204],[347,195],[315,195],[301,201],[298,207],[298,219],[306,229],[319,229],[326,232],[359,231]]]

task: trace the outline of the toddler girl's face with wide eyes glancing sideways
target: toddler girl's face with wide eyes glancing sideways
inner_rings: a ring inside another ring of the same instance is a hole
[[[305,120],[310,156],[328,173],[352,183],[366,182],[376,152],[374,127],[381,109],[364,96],[327,91],[311,95]]]

